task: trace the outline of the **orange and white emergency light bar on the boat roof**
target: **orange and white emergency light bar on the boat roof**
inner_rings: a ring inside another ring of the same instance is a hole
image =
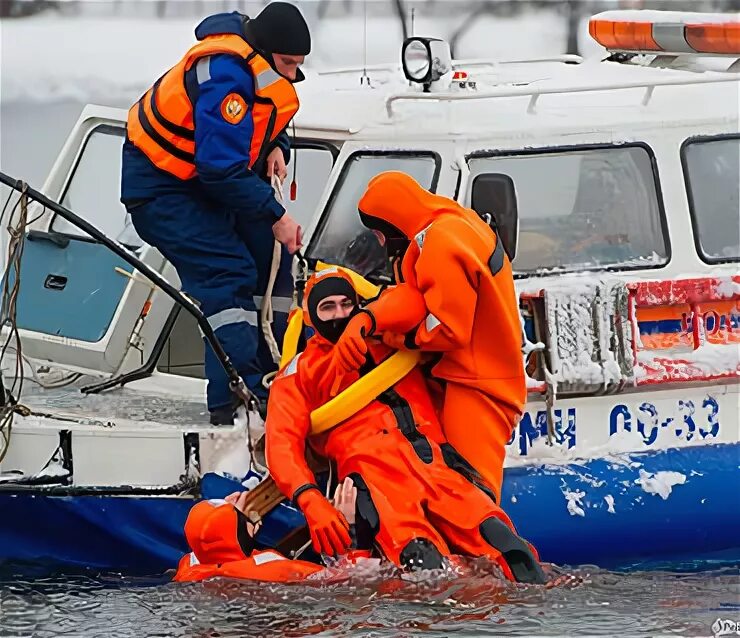
[[[610,51],[740,56],[740,14],[605,11],[588,31]]]

